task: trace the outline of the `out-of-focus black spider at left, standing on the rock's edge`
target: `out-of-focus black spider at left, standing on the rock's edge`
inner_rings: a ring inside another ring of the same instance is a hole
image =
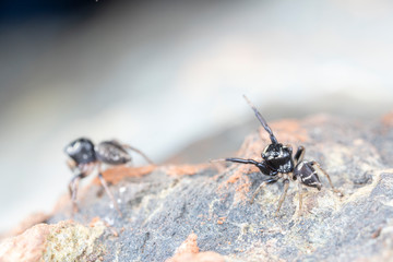
[[[130,145],[121,144],[116,140],[104,141],[97,145],[85,138],[80,138],[72,141],[66,146],[64,152],[71,157],[68,162],[69,167],[74,174],[74,177],[69,183],[70,195],[73,205],[73,213],[78,212],[76,193],[78,184],[82,178],[87,177],[94,170],[98,169],[98,179],[103,184],[105,191],[114,203],[114,206],[122,216],[119,206],[117,205],[114,195],[110,193],[107,182],[102,174],[102,164],[122,165],[131,162],[131,156],[128,151],[134,151],[142,155],[150,164],[153,162],[141,151],[131,147]]]

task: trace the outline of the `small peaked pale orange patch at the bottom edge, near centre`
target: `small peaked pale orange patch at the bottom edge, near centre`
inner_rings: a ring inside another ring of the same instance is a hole
[[[190,234],[176,250],[175,255],[166,262],[224,262],[224,258],[215,252],[200,252],[196,245],[196,234]]]

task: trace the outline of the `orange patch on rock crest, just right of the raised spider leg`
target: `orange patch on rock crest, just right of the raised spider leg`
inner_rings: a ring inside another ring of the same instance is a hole
[[[281,121],[273,122],[271,128],[274,132],[274,135],[283,144],[286,143],[296,143],[305,142],[308,140],[308,133],[305,128],[302,128],[297,120],[285,119]],[[260,132],[266,133],[263,129],[260,129]]]

